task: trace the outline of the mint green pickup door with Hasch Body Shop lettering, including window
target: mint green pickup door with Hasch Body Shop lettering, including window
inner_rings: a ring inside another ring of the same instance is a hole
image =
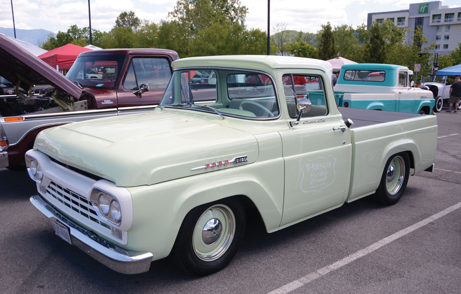
[[[298,125],[280,132],[285,160],[282,226],[344,202],[352,150],[350,130],[333,130],[344,122],[340,114],[329,114],[329,108],[336,106],[328,105],[325,99],[326,93],[333,93],[325,90],[321,75],[285,74],[283,82],[291,121],[298,113],[296,99],[308,97],[312,107]]]

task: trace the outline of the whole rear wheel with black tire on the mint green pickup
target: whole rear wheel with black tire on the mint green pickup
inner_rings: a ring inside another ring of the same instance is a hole
[[[410,158],[402,152],[392,155],[384,166],[375,199],[384,205],[397,203],[405,192],[410,176]]]

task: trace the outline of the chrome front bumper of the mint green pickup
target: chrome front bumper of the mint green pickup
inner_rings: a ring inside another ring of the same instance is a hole
[[[121,274],[140,274],[149,270],[154,257],[152,253],[127,251],[108,243],[61,215],[38,194],[32,195],[30,202],[51,221],[66,224],[70,228],[72,244],[103,265]]]

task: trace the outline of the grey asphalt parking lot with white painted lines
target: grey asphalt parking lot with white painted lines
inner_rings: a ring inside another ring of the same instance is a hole
[[[54,236],[26,172],[0,169],[1,293],[457,293],[461,289],[461,113],[437,114],[434,173],[399,203],[364,198],[267,234],[249,216],[231,264],[197,278],[169,259],[122,275]]]

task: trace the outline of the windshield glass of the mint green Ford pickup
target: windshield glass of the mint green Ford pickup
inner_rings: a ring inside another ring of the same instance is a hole
[[[279,115],[279,103],[269,75],[242,70],[177,70],[160,106],[248,118]]]

